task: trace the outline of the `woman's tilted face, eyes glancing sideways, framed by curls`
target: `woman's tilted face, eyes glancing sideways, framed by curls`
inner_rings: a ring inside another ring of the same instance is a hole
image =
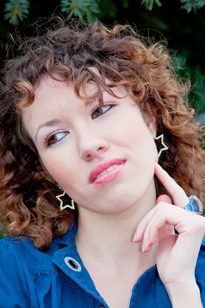
[[[95,85],[86,91],[93,94]],[[121,86],[113,91],[119,97],[127,93]],[[103,94],[106,107],[98,106],[97,99],[94,103],[78,99],[72,85],[47,76],[27,108],[31,117],[24,112],[23,121],[47,171],[78,206],[117,214],[153,184],[158,160],[151,132],[155,125],[148,119],[148,127],[129,96],[116,99]],[[116,168],[101,175],[110,166]]]

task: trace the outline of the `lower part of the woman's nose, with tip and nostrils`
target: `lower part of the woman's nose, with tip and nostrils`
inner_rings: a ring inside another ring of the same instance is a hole
[[[83,133],[79,140],[79,157],[83,160],[91,160],[98,157],[101,152],[108,149],[108,143],[97,133]]]

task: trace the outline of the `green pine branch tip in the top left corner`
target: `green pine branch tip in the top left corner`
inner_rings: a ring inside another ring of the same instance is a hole
[[[30,8],[29,0],[7,0],[4,8],[4,18],[9,23],[17,26],[19,20],[24,21],[28,17]]]

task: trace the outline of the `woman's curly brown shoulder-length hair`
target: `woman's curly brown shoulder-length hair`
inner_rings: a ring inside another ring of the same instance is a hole
[[[100,22],[61,21],[21,39],[17,53],[7,61],[0,94],[0,208],[7,235],[29,237],[38,249],[47,249],[77,215],[77,208],[59,209],[56,182],[22,121],[22,111],[34,101],[34,86],[45,74],[72,82],[82,100],[93,99],[85,86],[94,83],[100,104],[102,89],[115,96],[112,88],[124,86],[143,114],[154,114],[157,134],[164,134],[169,149],[162,152],[160,165],[187,195],[203,198],[204,128],[188,103],[190,82],[178,78],[164,42],[151,43],[129,25],[108,29]],[[155,184],[157,197],[168,194],[156,177]]]

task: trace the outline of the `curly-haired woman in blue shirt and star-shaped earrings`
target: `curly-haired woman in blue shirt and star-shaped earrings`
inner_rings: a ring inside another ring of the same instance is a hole
[[[72,23],[5,76],[1,307],[202,307],[204,130],[166,48]]]

